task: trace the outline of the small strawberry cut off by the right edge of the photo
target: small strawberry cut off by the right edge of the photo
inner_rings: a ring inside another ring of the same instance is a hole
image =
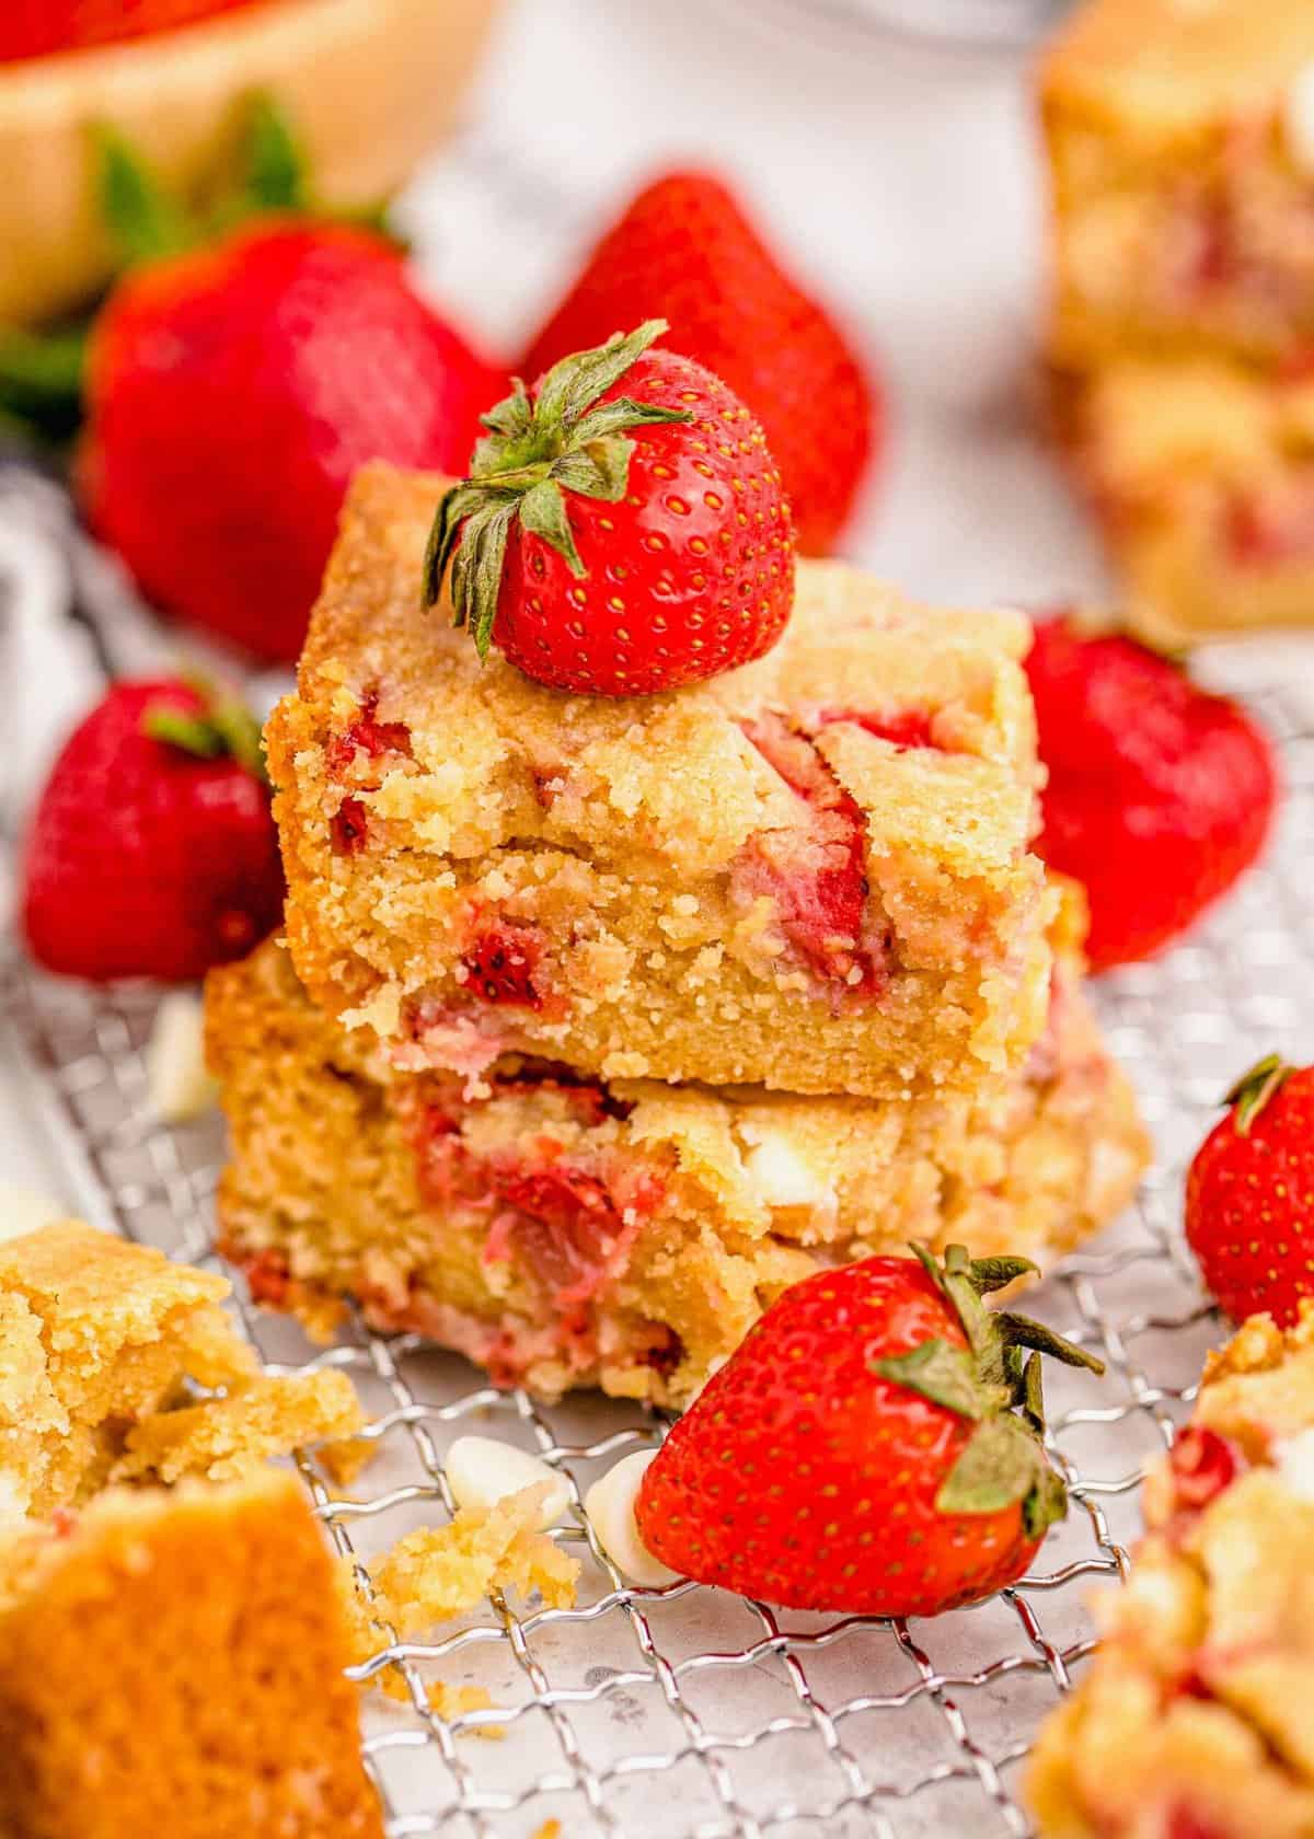
[[[1314,1296],[1314,1067],[1277,1054],[1233,1085],[1187,1175],[1187,1239],[1235,1322]]]

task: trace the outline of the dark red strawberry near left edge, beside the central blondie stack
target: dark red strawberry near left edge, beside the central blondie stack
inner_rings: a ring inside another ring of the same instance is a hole
[[[193,684],[114,684],[40,794],[22,901],[33,958],[68,977],[180,980],[250,951],[283,905],[254,719]]]

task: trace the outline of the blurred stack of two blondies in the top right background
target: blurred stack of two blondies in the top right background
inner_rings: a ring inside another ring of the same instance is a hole
[[[1086,0],[1040,97],[1058,425],[1132,618],[1314,620],[1314,9]]]

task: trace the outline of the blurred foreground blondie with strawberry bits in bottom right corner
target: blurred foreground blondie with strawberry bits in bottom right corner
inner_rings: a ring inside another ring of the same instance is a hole
[[[1130,1583],[1104,1598],[1097,1659],[1031,1764],[1047,1839],[1314,1833],[1314,1306],[1303,1309],[1286,1335],[1251,1317],[1211,1357],[1193,1425],[1222,1442],[1204,1445],[1185,1486],[1169,1462],[1147,1477]]]

